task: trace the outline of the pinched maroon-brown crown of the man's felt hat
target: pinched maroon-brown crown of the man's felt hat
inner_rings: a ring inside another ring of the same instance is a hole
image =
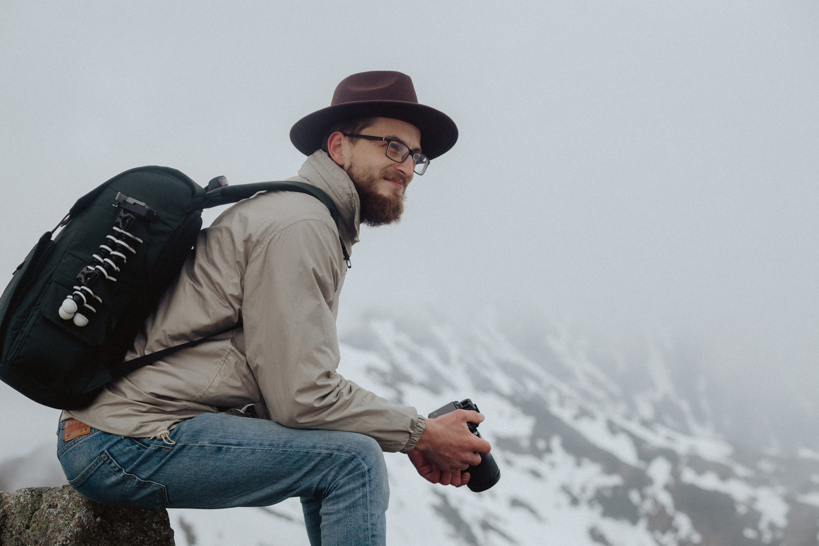
[[[359,72],[342,79],[333,93],[331,106],[346,102],[400,101],[418,104],[412,79],[392,70]]]

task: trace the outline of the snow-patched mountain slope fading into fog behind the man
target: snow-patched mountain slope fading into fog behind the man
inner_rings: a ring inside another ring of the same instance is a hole
[[[558,328],[523,335],[500,319],[455,324],[369,314],[342,336],[340,371],[396,403],[429,412],[473,399],[501,469],[475,494],[387,453],[388,544],[819,546],[819,453],[726,440],[722,401],[690,354],[606,350]],[[180,545],[307,544],[296,499],[170,516]]]

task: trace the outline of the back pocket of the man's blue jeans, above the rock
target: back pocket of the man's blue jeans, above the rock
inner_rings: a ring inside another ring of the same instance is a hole
[[[165,485],[129,474],[106,451],[95,458],[79,476],[68,482],[79,493],[97,503],[129,508],[165,508]]]

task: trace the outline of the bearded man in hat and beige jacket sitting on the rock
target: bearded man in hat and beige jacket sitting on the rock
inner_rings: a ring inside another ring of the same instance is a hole
[[[221,214],[126,359],[243,327],[64,412],[58,455],[71,485],[102,503],[229,508],[298,496],[310,544],[384,544],[382,451],[408,453],[428,481],[459,486],[490,446],[468,431],[479,413],[425,420],[339,375],[338,296],[360,222],[396,222],[414,174],[458,132],[418,103],[409,76],[365,72],[290,136],[309,156],[291,179],[331,197],[338,227],[296,192],[260,193]]]

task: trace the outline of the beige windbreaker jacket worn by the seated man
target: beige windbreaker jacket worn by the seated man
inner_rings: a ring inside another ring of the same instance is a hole
[[[327,192],[340,226],[313,196],[264,192],[203,230],[196,252],[126,359],[218,332],[111,382],[93,404],[63,413],[112,434],[152,437],[201,413],[257,403],[261,417],[292,428],[360,432],[384,451],[407,452],[423,432],[415,408],[374,395],[336,368],[338,296],[358,240],[358,194],[323,151],[291,180]],[[340,233],[339,233],[340,232]]]

